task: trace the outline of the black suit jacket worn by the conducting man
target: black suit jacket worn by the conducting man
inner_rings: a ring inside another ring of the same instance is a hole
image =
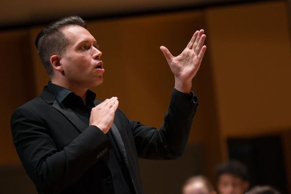
[[[176,159],[186,146],[198,101],[172,94],[160,130],[115,113],[111,128],[136,194],[142,194],[138,157]],[[100,103],[95,101],[96,104]],[[19,158],[41,194],[113,194],[105,164],[112,145],[95,126],[59,103],[44,88],[40,97],[22,105],[11,118]]]

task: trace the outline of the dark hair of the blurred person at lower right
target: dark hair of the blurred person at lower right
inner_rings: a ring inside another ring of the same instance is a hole
[[[230,174],[234,177],[241,178],[242,180],[249,180],[248,170],[246,166],[239,161],[231,160],[226,163],[220,164],[216,169],[216,179],[223,174]]]

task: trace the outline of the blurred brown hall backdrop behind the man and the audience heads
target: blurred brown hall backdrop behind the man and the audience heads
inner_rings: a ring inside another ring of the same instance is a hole
[[[132,120],[160,127],[174,86],[160,51],[178,55],[195,30],[208,46],[193,81],[200,99],[183,157],[140,160],[145,194],[178,194],[184,180],[229,159],[247,165],[251,186],[291,194],[289,0],[0,1],[0,193],[35,194],[13,145],[10,117],[49,81],[34,39],[55,19],[87,20],[103,52],[97,98],[117,96]]]

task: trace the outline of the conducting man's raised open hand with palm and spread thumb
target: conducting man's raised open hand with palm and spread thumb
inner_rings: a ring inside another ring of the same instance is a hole
[[[206,46],[203,45],[205,38],[204,30],[196,31],[187,47],[176,57],[166,47],[160,47],[175,76],[175,88],[180,92],[190,93],[191,91],[192,79],[206,51]]]

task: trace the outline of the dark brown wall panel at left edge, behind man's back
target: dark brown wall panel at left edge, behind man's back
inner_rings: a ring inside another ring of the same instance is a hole
[[[12,144],[10,117],[16,107],[34,97],[28,45],[27,30],[0,32],[0,165],[19,163]]]

